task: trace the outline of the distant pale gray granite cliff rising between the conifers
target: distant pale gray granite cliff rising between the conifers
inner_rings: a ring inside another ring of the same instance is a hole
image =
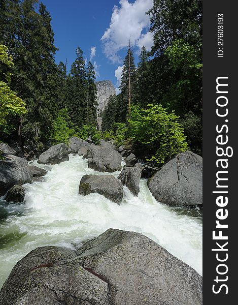
[[[116,95],[116,90],[110,80],[102,80],[96,82],[97,88],[97,128],[101,130],[101,113],[108,105],[110,96]]]

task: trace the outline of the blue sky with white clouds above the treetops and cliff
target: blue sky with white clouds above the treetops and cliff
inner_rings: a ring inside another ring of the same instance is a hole
[[[80,46],[95,66],[96,80],[111,80],[118,87],[129,37],[135,58],[140,47],[150,49],[149,17],[152,0],[42,0],[52,17],[56,62],[67,70]],[[115,76],[116,74],[116,76]]]

